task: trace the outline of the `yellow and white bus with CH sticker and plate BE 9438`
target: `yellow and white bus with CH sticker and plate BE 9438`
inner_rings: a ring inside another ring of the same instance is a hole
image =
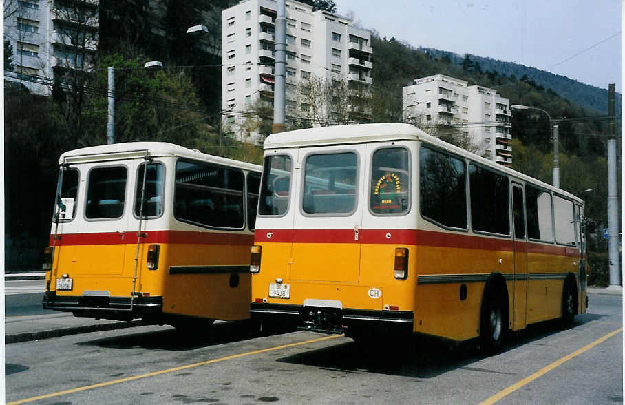
[[[486,351],[586,309],[584,203],[407,124],[268,136],[253,319]]]

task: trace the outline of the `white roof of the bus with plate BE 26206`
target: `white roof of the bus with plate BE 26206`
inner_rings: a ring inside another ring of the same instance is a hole
[[[209,161],[213,163],[220,163],[222,165],[239,167],[240,169],[246,169],[253,172],[260,172],[262,170],[262,166],[254,165],[253,163],[240,162],[239,160],[204,154],[198,150],[187,149],[186,147],[167,142],[125,142],[113,143],[111,145],[83,147],[81,149],[74,149],[61,154],[59,157],[59,164],[143,158],[145,156],[145,152],[147,152],[148,156],[151,157],[179,156],[181,158]]]

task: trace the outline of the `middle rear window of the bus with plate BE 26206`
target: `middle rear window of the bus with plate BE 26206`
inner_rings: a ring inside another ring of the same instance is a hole
[[[126,178],[127,169],[123,166],[92,169],[85,216],[89,219],[120,218],[124,214]]]

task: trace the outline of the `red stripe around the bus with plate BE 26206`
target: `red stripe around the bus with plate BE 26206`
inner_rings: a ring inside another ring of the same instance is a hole
[[[195,231],[147,231],[140,238],[142,243],[184,243],[188,245],[252,245],[254,236],[244,233],[195,232]],[[50,236],[50,246],[123,245],[137,242],[136,232],[65,233]]]

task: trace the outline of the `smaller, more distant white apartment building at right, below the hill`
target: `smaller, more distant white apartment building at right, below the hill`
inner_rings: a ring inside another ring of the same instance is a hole
[[[404,122],[454,127],[470,137],[480,156],[511,165],[512,113],[496,90],[434,74],[403,87],[402,103]]]

